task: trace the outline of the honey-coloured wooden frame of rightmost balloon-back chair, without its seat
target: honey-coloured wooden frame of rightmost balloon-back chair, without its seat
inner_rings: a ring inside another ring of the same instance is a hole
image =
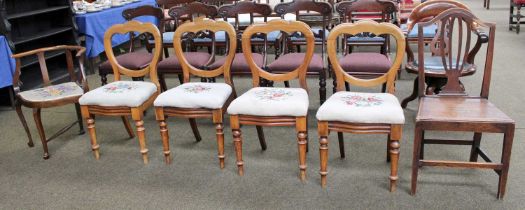
[[[388,72],[380,77],[373,79],[360,79],[346,73],[339,63],[337,57],[337,39],[341,35],[358,34],[362,32],[370,32],[377,35],[390,35],[396,40],[396,58]],[[332,67],[334,68],[335,78],[337,80],[337,91],[345,90],[345,83],[360,87],[374,87],[386,83],[387,92],[393,94],[395,91],[395,80],[397,70],[401,66],[404,52],[405,52],[405,37],[401,29],[391,23],[377,23],[373,20],[360,20],[355,24],[342,23],[332,29],[327,41],[328,58]],[[348,123],[337,121],[318,121],[319,132],[319,153],[321,156],[321,185],[326,186],[327,164],[328,164],[328,135],[330,131],[339,132],[339,149],[341,157],[344,158],[344,144],[342,139],[342,132],[354,134],[388,134],[387,143],[387,161],[390,160],[390,191],[396,189],[398,175],[398,160],[399,160],[399,141],[402,137],[402,124],[384,124],[384,123]],[[390,157],[390,158],[388,158]]]

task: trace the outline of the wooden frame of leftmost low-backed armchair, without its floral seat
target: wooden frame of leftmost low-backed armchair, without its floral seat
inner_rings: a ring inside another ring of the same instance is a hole
[[[36,55],[38,57],[38,62],[40,63],[40,71],[42,73],[42,80],[44,83],[44,87],[50,86],[51,80],[49,78],[49,73],[47,70],[46,65],[46,59],[45,59],[45,53],[49,51],[65,51],[66,53],[66,62],[67,62],[67,70],[69,73],[70,81],[76,82],[83,90],[84,93],[89,91],[89,87],[86,80],[86,74],[84,73],[84,53],[86,51],[86,48],[81,46],[66,46],[66,45],[59,45],[54,47],[47,47],[47,48],[40,48],[36,50],[31,50],[28,52],[18,53],[13,55],[12,57],[16,60],[16,69],[15,73],[13,75],[13,90],[15,95],[15,109],[16,113],[18,114],[18,118],[22,122],[22,126],[24,127],[24,130],[27,134],[27,137],[29,139],[27,145],[29,147],[33,147],[33,139],[31,137],[31,132],[29,131],[29,127],[27,126],[27,122],[24,117],[24,113],[22,112],[22,105],[25,107],[29,107],[33,109],[33,117],[35,119],[36,128],[38,130],[38,134],[40,135],[40,140],[42,141],[42,146],[44,148],[44,159],[49,159],[49,151],[47,148],[47,142],[55,139],[59,135],[63,134],[70,128],[72,128],[75,124],[78,123],[80,127],[79,134],[84,134],[84,126],[82,124],[82,118],[80,116],[80,106],[78,104],[78,97],[67,97],[60,100],[53,100],[53,101],[46,101],[46,102],[31,102],[31,101],[25,101],[23,100],[18,93],[21,92],[21,82],[20,82],[20,74],[22,73],[22,61],[21,59],[27,56],[34,56]],[[76,54],[74,55],[78,59],[78,67],[79,67],[79,75],[75,75],[75,64],[73,61],[73,51],[76,51]],[[50,108],[50,107],[57,107],[57,106],[63,106],[67,104],[75,104],[75,109],[77,112],[78,120],[73,122],[72,124],[60,129],[57,133],[53,134],[50,138],[46,138],[46,134],[44,131],[44,126],[42,125],[42,118],[41,118],[41,110],[42,108]]]

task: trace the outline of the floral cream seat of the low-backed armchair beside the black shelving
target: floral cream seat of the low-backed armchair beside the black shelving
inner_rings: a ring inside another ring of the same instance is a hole
[[[51,85],[34,90],[18,93],[25,101],[46,102],[55,101],[63,98],[78,97],[84,93],[82,88],[74,82],[67,82],[58,85]]]

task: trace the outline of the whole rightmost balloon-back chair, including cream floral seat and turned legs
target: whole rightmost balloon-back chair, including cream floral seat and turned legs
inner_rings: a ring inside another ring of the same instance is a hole
[[[397,43],[396,57],[390,69],[382,76],[360,79],[346,73],[337,58],[336,41],[341,35],[355,35],[370,32],[389,35]],[[332,95],[317,111],[319,152],[321,159],[321,185],[326,186],[328,164],[328,136],[330,131],[353,134],[388,134],[387,161],[390,159],[390,191],[396,189],[398,180],[399,141],[401,140],[405,117],[399,101],[393,95],[396,75],[403,61],[405,38],[394,24],[361,20],[355,24],[342,23],[332,29],[328,36],[328,58],[337,79],[337,93]],[[387,93],[362,93],[344,91],[344,83],[360,87],[375,87],[386,83]],[[341,158],[344,158],[344,144],[339,138]]]

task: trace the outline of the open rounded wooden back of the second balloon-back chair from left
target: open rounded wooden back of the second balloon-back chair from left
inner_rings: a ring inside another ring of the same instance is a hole
[[[180,25],[177,28],[177,30],[175,30],[173,47],[175,48],[175,54],[177,55],[177,58],[179,59],[182,66],[184,82],[190,81],[190,75],[196,75],[199,77],[216,77],[223,74],[224,81],[227,84],[232,85],[230,78],[230,66],[233,61],[233,57],[235,56],[237,42],[229,42],[229,53],[226,56],[226,60],[224,61],[224,64],[217,69],[201,70],[188,63],[188,60],[186,59],[186,57],[184,56],[184,52],[182,51],[181,42],[183,35],[185,33],[197,33],[200,31],[211,31],[214,33],[218,31],[225,31],[230,40],[235,40],[236,36],[235,29],[233,28],[233,26],[225,21],[199,20],[194,22],[187,22]]]

